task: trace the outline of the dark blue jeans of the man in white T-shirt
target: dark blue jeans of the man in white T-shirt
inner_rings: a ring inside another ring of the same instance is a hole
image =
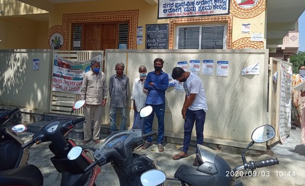
[[[196,125],[196,142],[197,144],[203,145],[203,126],[205,121],[205,111],[201,110],[186,110],[184,120],[184,138],[182,151],[187,153],[188,147],[191,141],[191,135],[194,123]],[[198,149],[196,148],[196,153]]]

